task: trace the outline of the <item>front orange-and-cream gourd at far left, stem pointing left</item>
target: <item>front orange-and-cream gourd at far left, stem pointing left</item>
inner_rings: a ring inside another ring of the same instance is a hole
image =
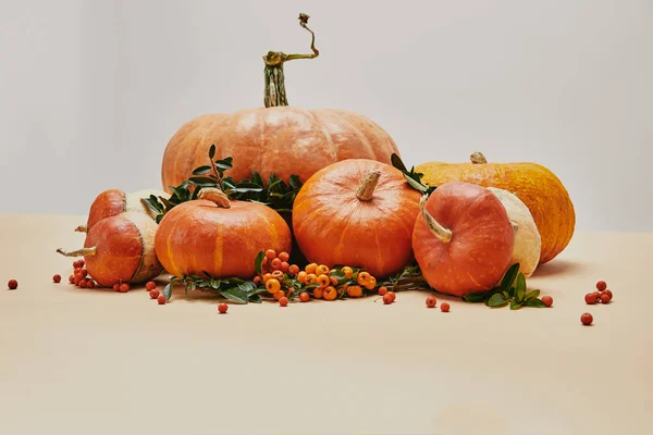
[[[87,233],[84,248],[66,257],[84,256],[88,274],[101,287],[118,283],[145,283],[163,272],[155,252],[157,223],[147,214],[130,211],[98,221]]]

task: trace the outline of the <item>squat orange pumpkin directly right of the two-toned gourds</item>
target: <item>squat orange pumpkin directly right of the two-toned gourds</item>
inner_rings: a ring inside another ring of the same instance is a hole
[[[215,188],[204,188],[199,198],[176,206],[159,223],[155,247],[169,273],[249,279],[258,252],[291,252],[291,229],[271,208],[230,201]]]

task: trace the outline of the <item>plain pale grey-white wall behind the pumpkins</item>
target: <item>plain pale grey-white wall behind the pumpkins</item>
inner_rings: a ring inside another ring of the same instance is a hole
[[[0,212],[85,213],[160,187],[202,113],[262,104],[268,50],[291,104],[358,111],[404,161],[534,161],[577,228],[653,231],[653,2],[0,1]]]

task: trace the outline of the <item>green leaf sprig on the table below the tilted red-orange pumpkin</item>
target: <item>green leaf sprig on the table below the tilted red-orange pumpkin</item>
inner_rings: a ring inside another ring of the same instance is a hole
[[[545,308],[539,298],[540,290],[528,291],[526,277],[519,272],[519,263],[513,264],[504,274],[500,285],[485,293],[470,293],[463,298],[467,302],[484,302],[491,308],[510,306],[510,310],[521,307]]]

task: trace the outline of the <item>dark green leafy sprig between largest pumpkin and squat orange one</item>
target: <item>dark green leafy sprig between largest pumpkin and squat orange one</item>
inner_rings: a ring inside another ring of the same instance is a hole
[[[218,188],[232,200],[260,202],[279,213],[291,213],[293,202],[301,188],[301,181],[297,175],[292,175],[287,183],[271,174],[268,184],[263,183],[261,175],[252,171],[251,176],[236,182],[225,172],[233,167],[233,158],[213,160],[215,146],[209,148],[209,165],[196,167],[193,176],[182,182],[178,186],[169,186],[172,195],[169,199],[150,195],[143,198],[145,203],[156,213],[157,223],[161,222],[165,213],[182,202],[198,198],[199,190],[205,187]]]

